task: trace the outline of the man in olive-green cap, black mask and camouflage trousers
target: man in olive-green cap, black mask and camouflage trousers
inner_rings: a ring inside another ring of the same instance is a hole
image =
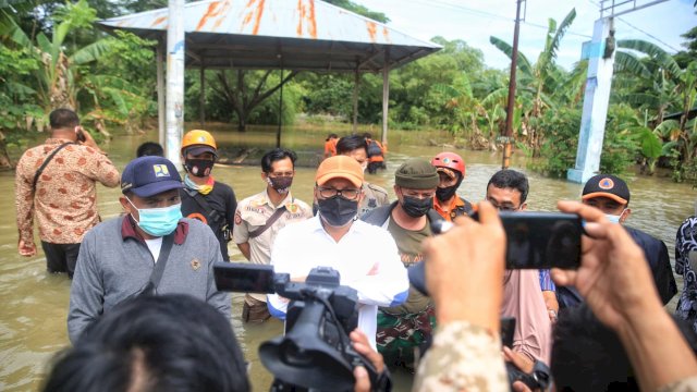
[[[442,220],[432,208],[439,181],[438,172],[429,161],[409,159],[394,173],[398,201],[369,211],[362,218],[390,232],[406,268],[424,259],[421,242],[431,235],[429,222]],[[380,308],[377,340],[386,364],[413,371],[416,365],[414,351],[428,340],[435,324],[431,299],[413,287],[404,304]]]

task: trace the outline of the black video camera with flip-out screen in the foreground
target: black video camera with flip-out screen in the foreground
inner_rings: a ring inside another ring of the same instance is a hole
[[[291,299],[285,335],[259,346],[261,363],[281,383],[319,391],[353,391],[353,370],[363,366],[372,389],[383,390],[388,380],[351,344],[348,333],[358,323],[358,293],[339,284],[338,271],[317,267],[299,283],[292,282],[288,273],[274,273],[271,266],[217,262],[213,270],[218,290],[278,293]]]

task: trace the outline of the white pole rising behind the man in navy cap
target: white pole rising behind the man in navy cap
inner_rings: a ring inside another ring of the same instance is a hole
[[[167,139],[164,156],[180,167],[184,131],[184,0],[169,0],[167,28]]]

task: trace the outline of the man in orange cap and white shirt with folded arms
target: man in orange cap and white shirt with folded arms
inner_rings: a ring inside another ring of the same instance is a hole
[[[331,267],[341,284],[358,292],[358,329],[375,348],[378,306],[403,303],[408,294],[406,270],[390,233],[357,220],[364,197],[363,169],[347,156],[327,158],[317,169],[318,213],[281,230],[271,250],[277,273],[304,281],[315,267]],[[268,296],[269,311],[284,319],[288,299]]]

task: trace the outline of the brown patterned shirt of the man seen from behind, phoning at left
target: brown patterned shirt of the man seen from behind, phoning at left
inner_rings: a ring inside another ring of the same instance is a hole
[[[80,244],[85,233],[99,223],[97,187],[119,185],[121,176],[113,163],[99,151],[83,145],[69,145],[32,182],[44,160],[69,139],[49,138],[24,152],[16,167],[15,207],[20,240],[34,244],[34,216],[42,241]]]

